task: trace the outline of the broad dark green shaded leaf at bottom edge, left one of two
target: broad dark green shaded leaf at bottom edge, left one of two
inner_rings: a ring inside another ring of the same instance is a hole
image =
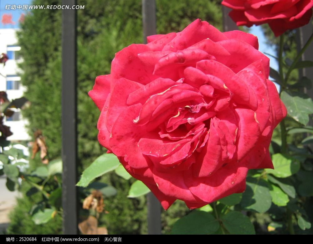
[[[192,211],[177,220],[172,227],[174,235],[207,235],[218,230],[218,221],[208,212]]]

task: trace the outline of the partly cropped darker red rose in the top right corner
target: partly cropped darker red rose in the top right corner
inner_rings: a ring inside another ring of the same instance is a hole
[[[309,23],[313,0],[223,0],[229,16],[248,27],[268,23],[275,36]]]

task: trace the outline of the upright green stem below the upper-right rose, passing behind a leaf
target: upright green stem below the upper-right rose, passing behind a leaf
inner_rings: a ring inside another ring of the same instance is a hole
[[[284,85],[284,86],[280,86],[280,95],[282,91],[285,89],[285,85],[287,84],[287,79],[284,80],[283,49],[284,49],[284,34],[280,36],[279,56],[278,56],[279,75]],[[285,119],[283,119],[280,122],[280,136],[281,136],[281,153],[287,153],[287,131],[286,131]]]

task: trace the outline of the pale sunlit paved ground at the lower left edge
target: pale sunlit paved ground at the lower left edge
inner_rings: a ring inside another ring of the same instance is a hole
[[[8,214],[15,205],[15,198],[18,196],[18,191],[9,191],[5,186],[7,179],[0,176],[0,233],[8,226]]]

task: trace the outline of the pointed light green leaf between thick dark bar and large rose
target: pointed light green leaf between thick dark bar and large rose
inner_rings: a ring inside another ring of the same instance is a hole
[[[105,153],[98,157],[81,175],[77,186],[86,187],[95,178],[115,170],[120,165],[118,158],[112,153]]]

